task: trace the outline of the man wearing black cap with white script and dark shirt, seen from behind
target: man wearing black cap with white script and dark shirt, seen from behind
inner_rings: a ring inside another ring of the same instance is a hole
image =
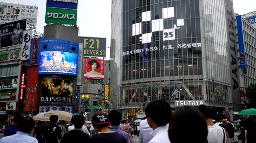
[[[94,114],[92,124],[97,134],[89,138],[89,143],[127,143],[127,139],[121,133],[108,129],[110,122],[107,114]]]

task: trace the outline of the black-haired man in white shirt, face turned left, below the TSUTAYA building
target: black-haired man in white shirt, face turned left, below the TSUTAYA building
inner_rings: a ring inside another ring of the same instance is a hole
[[[171,143],[168,137],[168,123],[172,114],[171,106],[163,99],[151,101],[145,110],[148,125],[154,130],[148,143]]]

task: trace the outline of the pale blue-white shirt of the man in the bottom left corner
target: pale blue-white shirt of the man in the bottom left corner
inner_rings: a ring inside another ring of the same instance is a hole
[[[3,137],[0,143],[38,143],[37,139],[28,136],[28,133],[17,131],[15,135]]]

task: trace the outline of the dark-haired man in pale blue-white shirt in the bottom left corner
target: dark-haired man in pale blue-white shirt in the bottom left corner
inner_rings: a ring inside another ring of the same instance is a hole
[[[33,118],[22,118],[22,121],[18,124],[17,133],[1,138],[0,143],[38,143],[36,138],[29,136],[34,127],[35,123]]]

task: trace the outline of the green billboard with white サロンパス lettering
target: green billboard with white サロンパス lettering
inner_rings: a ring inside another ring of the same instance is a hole
[[[46,7],[45,23],[76,25],[77,10]]]

